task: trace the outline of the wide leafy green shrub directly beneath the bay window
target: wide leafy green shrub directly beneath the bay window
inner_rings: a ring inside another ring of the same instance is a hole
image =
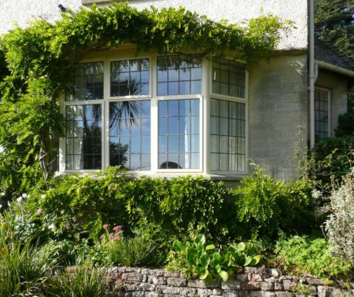
[[[198,231],[219,236],[226,193],[222,183],[200,177],[130,180],[108,168],[96,178],[71,175],[46,182],[34,188],[24,207],[34,214],[41,210],[36,218],[53,238],[77,240],[89,231],[97,241],[103,223],[120,222],[127,236],[137,228],[163,247],[170,238],[182,240]]]

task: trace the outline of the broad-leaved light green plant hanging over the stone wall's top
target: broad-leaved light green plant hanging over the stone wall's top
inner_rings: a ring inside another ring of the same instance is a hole
[[[182,267],[182,270],[190,275],[196,274],[206,283],[214,278],[227,281],[229,276],[243,266],[256,265],[260,260],[259,256],[246,251],[245,243],[238,243],[237,246],[232,244],[221,250],[212,243],[206,243],[206,236],[203,234],[196,236],[191,243],[174,241],[173,248],[177,253],[186,255],[186,262],[181,261],[180,264],[187,263],[188,268]],[[176,265],[176,261],[173,265]]]

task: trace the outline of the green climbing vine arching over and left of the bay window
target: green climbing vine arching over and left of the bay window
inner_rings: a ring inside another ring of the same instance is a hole
[[[290,21],[273,15],[238,25],[183,8],[139,11],[126,3],[69,11],[54,24],[39,20],[26,29],[16,27],[0,39],[0,60],[4,57],[6,64],[0,68],[2,158],[17,158],[14,168],[39,162],[44,176],[51,176],[50,139],[63,135],[58,95],[66,90],[72,67],[89,51],[123,44],[159,54],[188,50],[213,57],[231,51],[250,64],[269,56],[290,27]]]

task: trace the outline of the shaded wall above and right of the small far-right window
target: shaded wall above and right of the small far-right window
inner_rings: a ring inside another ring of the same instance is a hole
[[[338,116],[347,112],[348,77],[319,69],[315,86],[330,90],[330,136],[335,136]]]

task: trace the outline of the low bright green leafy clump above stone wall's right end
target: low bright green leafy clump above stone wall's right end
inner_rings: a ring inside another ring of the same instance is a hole
[[[281,238],[277,243],[276,261],[286,271],[303,273],[306,271],[318,277],[348,276],[351,266],[329,253],[329,244],[325,238],[293,236]]]

